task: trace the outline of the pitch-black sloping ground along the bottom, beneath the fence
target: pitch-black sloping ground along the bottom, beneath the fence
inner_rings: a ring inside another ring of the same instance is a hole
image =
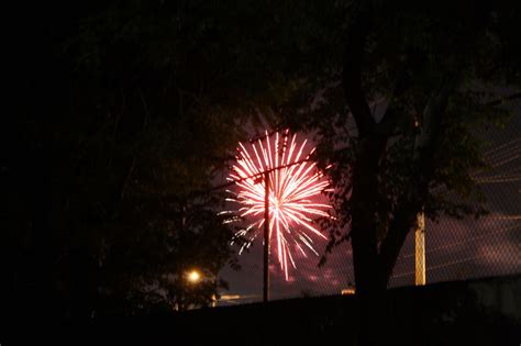
[[[322,297],[89,321],[18,317],[1,345],[359,345],[361,300]],[[366,304],[374,345],[520,345],[521,276],[387,291]]]

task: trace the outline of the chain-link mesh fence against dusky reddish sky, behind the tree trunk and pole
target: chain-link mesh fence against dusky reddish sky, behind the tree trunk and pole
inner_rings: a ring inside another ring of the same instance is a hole
[[[479,219],[442,216],[439,222],[426,220],[423,250],[418,247],[414,232],[410,232],[389,281],[390,288],[415,284],[417,275],[422,268],[426,284],[521,272],[520,133],[519,112],[506,129],[486,133],[490,144],[484,157],[491,169],[477,172],[475,178],[487,198],[485,208],[488,214]],[[351,244],[346,242],[336,247],[323,267],[319,268],[318,261],[317,256],[300,256],[288,280],[273,263],[270,298],[277,300],[353,292]],[[225,269],[221,274],[230,282],[230,292],[223,293],[221,305],[255,302],[263,298],[260,242],[241,255],[241,265],[240,271]]]

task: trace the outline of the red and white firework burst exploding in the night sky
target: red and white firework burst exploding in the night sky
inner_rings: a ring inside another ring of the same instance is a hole
[[[265,222],[263,176],[269,171],[269,239],[275,238],[277,259],[286,280],[288,261],[296,268],[292,246],[306,257],[304,247],[318,255],[310,234],[322,239],[326,236],[313,225],[312,217],[330,217],[326,210],[331,208],[312,201],[329,186],[317,164],[308,160],[314,148],[304,155],[307,139],[299,144],[296,134],[288,139],[288,131],[280,139],[277,132],[271,143],[266,131],[265,144],[257,139],[248,150],[240,143],[237,160],[230,174],[230,180],[237,181],[240,189],[234,199],[228,199],[240,203],[239,214],[251,221],[237,235],[251,235],[248,239],[253,242]]]

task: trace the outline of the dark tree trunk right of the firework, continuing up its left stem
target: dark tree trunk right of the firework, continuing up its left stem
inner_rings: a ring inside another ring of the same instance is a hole
[[[366,3],[365,3],[366,4]],[[376,289],[378,249],[376,234],[376,196],[381,143],[374,135],[375,120],[362,86],[362,60],[370,26],[370,9],[358,3],[359,15],[347,32],[342,71],[342,86],[358,129],[358,147],[353,168],[351,196],[351,242],[356,293]]]

